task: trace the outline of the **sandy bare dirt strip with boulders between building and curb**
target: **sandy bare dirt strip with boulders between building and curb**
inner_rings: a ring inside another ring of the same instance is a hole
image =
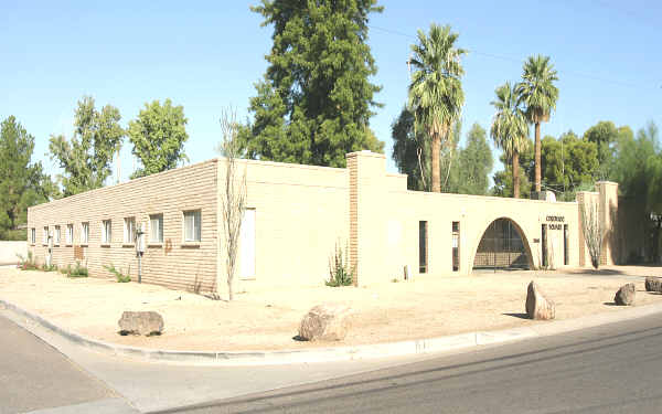
[[[434,338],[476,330],[545,323],[525,318],[526,286],[534,279],[556,302],[556,318],[619,311],[613,295],[637,284],[637,306],[660,302],[645,276],[662,267],[613,266],[592,272],[483,272],[472,276],[419,277],[370,287],[282,288],[212,300],[192,293],[113,279],[66,278],[60,273],[0,268],[0,298],[89,338],[170,350],[301,349]],[[342,342],[296,341],[313,306],[343,302],[356,310]],[[118,335],[124,310],[156,310],[166,329],[157,337]]]

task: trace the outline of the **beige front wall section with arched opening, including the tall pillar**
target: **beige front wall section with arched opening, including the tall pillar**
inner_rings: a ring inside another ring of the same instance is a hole
[[[494,197],[407,191],[406,176],[387,174],[383,155],[348,155],[352,193],[356,193],[356,248],[359,284],[402,277],[403,267],[418,274],[418,223],[428,225],[428,270],[426,277],[452,274],[452,222],[460,223],[460,268],[470,274],[478,244],[490,223],[510,219],[522,231],[531,251],[532,265],[540,266],[542,224],[562,224],[548,231],[549,267],[564,267],[563,224],[568,225],[567,266],[578,266],[578,215],[576,202],[548,202]],[[353,172],[355,170],[355,172]],[[355,187],[355,189],[354,189]],[[352,213],[354,214],[354,213]],[[563,217],[563,222],[548,216]],[[538,242],[536,242],[538,240]]]

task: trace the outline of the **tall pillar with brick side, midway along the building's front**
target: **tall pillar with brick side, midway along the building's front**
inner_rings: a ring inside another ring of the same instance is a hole
[[[384,282],[386,157],[371,151],[346,155],[350,176],[350,263],[354,285]]]

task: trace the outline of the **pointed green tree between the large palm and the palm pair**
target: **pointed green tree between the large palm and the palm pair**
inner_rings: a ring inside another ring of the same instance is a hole
[[[459,151],[458,166],[453,171],[453,191],[459,194],[485,195],[490,187],[489,173],[494,159],[488,145],[485,130],[477,123],[467,134],[467,144]]]

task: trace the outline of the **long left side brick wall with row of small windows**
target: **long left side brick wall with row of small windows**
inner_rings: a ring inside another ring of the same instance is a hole
[[[62,242],[53,247],[53,263],[66,266],[76,262],[74,246],[81,246],[81,223],[89,222],[89,242],[83,247],[93,276],[113,277],[103,266],[113,264],[125,273],[130,266],[137,279],[138,261],[134,244],[124,243],[124,219],[136,217],[148,230],[149,214],[163,214],[163,244],[147,244],[142,257],[142,282],[170,287],[211,289],[216,277],[216,160],[161,172],[118,185],[102,188],[35,205],[28,210],[28,235],[34,227],[36,243],[30,243],[40,263],[47,246],[42,242],[44,226],[52,233],[61,226]],[[183,211],[201,210],[200,243],[184,244]],[[111,243],[102,246],[102,221],[111,220]],[[67,224],[74,224],[72,245],[65,244]]]

